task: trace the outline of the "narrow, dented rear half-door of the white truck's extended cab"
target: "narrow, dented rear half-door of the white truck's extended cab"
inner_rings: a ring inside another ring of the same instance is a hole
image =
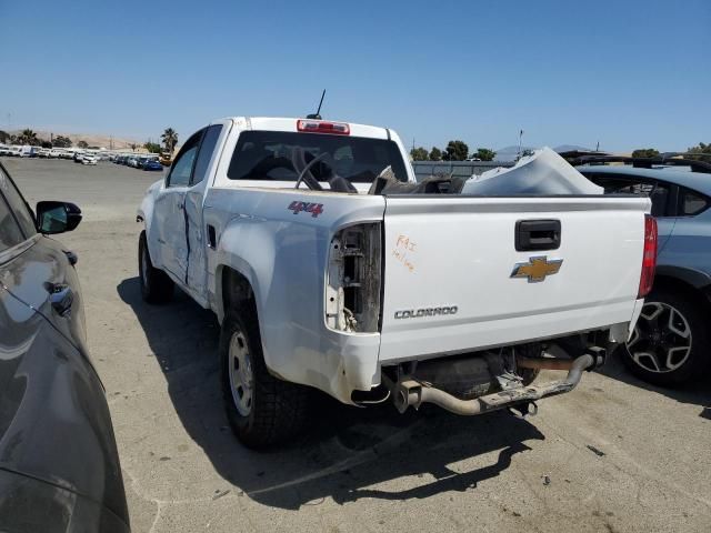
[[[207,282],[206,248],[214,245],[214,243],[210,242],[211,237],[202,223],[202,201],[206,187],[211,181],[209,177],[214,174],[214,168],[219,159],[219,154],[216,154],[216,147],[221,145],[221,142],[218,141],[223,130],[228,130],[228,128],[223,128],[222,124],[212,124],[207,128],[198,151],[190,187],[186,193],[187,284],[193,290],[193,296],[198,299],[207,296],[207,291],[204,290]]]

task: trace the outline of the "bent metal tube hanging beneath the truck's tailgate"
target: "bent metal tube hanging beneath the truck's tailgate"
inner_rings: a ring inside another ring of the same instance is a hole
[[[568,375],[562,381],[553,381],[541,385],[518,386],[487,394],[474,400],[460,400],[457,396],[427,383],[421,383],[410,376],[405,376],[397,383],[389,382],[388,385],[391,386],[393,402],[400,413],[404,413],[409,406],[419,409],[423,403],[433,403],[451,413],[472,416],[572,391],[578,383],[580,383],[580,378],[584,370],[597,366],[601,362],[599,358],[604,360],[604,354],[600,355],[600,350],[604,353],[604,350],[598,349],[593,350],[592,353],[585,353],[569,361],[570,369]],[[535,361],[535,364],[538,363],[539,361]]]

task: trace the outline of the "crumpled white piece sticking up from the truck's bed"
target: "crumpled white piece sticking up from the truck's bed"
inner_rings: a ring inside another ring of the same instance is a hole
[[[521,158],[510,169],[499,167],[481,175],[472,175],[461,191],[461,194],[478,195],[602,193],[601,187],[593,184],[548,147]]]

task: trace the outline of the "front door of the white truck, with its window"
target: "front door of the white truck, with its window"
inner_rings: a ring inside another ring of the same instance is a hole
[[[181,283],[188,274],[186,194],[203,133],[204,129],[198,131],[180,149],[153,205],[160,262]]]

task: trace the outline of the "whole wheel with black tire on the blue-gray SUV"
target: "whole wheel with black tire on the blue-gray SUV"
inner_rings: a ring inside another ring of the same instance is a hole
[[[678,386],[702,376],[711,361],[710,346],[700,305],[684,292],[660,289],[644,300],[622,353],[640,379]]]

